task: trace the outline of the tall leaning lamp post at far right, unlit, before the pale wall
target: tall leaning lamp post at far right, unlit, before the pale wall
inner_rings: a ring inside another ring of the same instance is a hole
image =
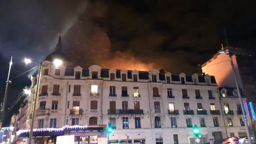
[[[241,107],[242,107],[242,116],[244,118],[245,129],[246,129],[246,132],[247,132],[247,137],[248,137],[248,140],[249,140],[249,144],[251,144],[252,142],[251,142],[251,135],[249,134],[248,121],[247,121],[247,117],[246,117],[246,114],[245,114],[244,103],[242,102],[242,97],[241,97],[241,93],[240,93],[240,89],[239,89],[239,85],[238,85],[238,80],[237,80],[237,75],[236,75],[236,72],[235,72],[235,66],[233,65],[233,59],[232,59],[231,53],[229,52],[229,49],[224,49],[223,47],[222,47],[222,50],[218,51],[218,53],[225,53],[226,55],[229,56],[229,59],[231,61],[232,71],[235,75],[235,84],[236,84],[236,89],[237,89],[237,92],[238,92],[239,102],[240,102]]]

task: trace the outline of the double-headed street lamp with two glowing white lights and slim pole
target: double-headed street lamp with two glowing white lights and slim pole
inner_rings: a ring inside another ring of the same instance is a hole
[[[28,59],[28,60],[24,60],[24,62],[31,63],[32,60]],[[60,59],[53,60],[53,65],[55,65],[57,67],[62,65],[62,60],[60,60]],[[32,120],[31,120],[31,123],[30,123],[30,132],[29,132],[29,137],[28,137],[28,144],[31,144],[32,137],[33,137],[34,119],[35,119],[35,116],[36,116],[36,103],[37,103],[37,98],[39,97],[39,87],[40,87],[41,71],[43,69],[42,62],[39,63],[39,67],[38,68],[39,68],[39,72],[38,72],[38,75],[37,75],[36,94],[34,95],[34,101],[33,101]]]

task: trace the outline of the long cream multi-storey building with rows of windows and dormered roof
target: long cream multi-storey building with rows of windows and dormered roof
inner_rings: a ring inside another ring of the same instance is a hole
[[[35,78],[32,84],[36,84]],[[28,105],[33,104],[36,87],[31,87]],[[203,142],[244,136],[241,114],[236,113],[238,98],[224,97],[220,91],[209,75],[102,69],[97,65],[56,68],[46,60],[33,139],[55,143],[58,135],[75,135],[76,143],[107,143],[104,129],[108,123],[114,128],[110,142],[194,143],[194,124]],[[27,108],[27,116],[30,114],[31,108]],[[29,125],[31,119],[27,118]],[[28,131],[20,130],[18,136],[27,138]]]

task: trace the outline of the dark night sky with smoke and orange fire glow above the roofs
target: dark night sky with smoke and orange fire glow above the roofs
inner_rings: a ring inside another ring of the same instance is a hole
[[[156,68],[171,73],[200,72],[220,44],[255,50],[253,1],[0,1],[0,94],[14,56],[11,78],[40,62],[62,36],[63,52],[80,66]],[[12,79],[11,105],[28,75]],[[15,111],[15,110],[13,110]]]

